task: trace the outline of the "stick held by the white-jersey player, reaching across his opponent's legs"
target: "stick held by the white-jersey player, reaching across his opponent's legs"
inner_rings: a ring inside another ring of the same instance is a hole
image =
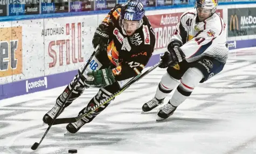
[[[144,72],[143,74],[137,75],[136,77],[134,77],[132,80],[130,80],[130,82],[128,82],[126,85],[124,85],[119,91],[115,92],[114,94],[112,94],[111,96],[109,96],[106,99],[103,99],[99,102],[99,104],[93,106],[93,107],[89,107],[88,111],[82,115],[73,117],[73,118],[59,118],[56,119],[53,123],[53,125],[56,124],[63,124],[63,123],[73,123],[73,122],[77,122],[78,120],[82,119],[84,116],[90,114],[91,112],[93,112],[95,109],[99,108],[100,106],[106,104],[107,102],[109,102],[110,100],[112,100],[114,97],[118,96],[119,94],[121,94],[124,90],[126,90],[130,85],[132,85],[133,83],[137,82],[138,80],[140,80],[141,78],[143,78],[144,76],[146,76],[147,74],[149,74],[151,71],[153,71],[154,69],[156,69],[162,61],[158,62],[157,64],[155,64],[153,67],[151,67],[150,69],[148,69],[146,72]]]

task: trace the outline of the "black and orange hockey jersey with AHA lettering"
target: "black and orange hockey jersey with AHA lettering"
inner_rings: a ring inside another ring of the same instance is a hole
[[[153,28],[146,16],[142,26],[131,36],[119,25],[122,5],[117,4],[103,19],[101,25],[109,32],[107,55],[115,65],[112,69],[116,80],[135,77],[141,73],[148,63],[155,46]]]

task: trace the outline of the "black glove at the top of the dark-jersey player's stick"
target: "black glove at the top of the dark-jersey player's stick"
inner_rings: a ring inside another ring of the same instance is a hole
[[[108,43],[109,33],[104,29],[103,25],[96,28],[93,36],[93,47],[100,45],[99,51],[106,49]]]

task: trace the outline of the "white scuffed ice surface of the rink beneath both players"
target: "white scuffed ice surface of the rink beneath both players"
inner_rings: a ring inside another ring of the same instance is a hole
[[[157,109],[141,114],[165,72],[156,69],[77,134],[64,136],[66,124],[52,126],[36,151],[30,147],[47,129],[41,125],[43,115],[64,87],[1,100],[0,153],[256,153],[255,54],[255,48],[230,53],[223,72],[199,84],[162,122],[156,122]],[[60,117],[76,116],[97,91],[85,90]]]

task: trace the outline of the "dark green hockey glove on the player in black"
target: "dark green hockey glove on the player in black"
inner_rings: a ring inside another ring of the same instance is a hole
[[[115,82],[114,74],[109,68],[88,72],[87,76],[91,80],[86,80],[85,83],[92,87],[105,87]]]

